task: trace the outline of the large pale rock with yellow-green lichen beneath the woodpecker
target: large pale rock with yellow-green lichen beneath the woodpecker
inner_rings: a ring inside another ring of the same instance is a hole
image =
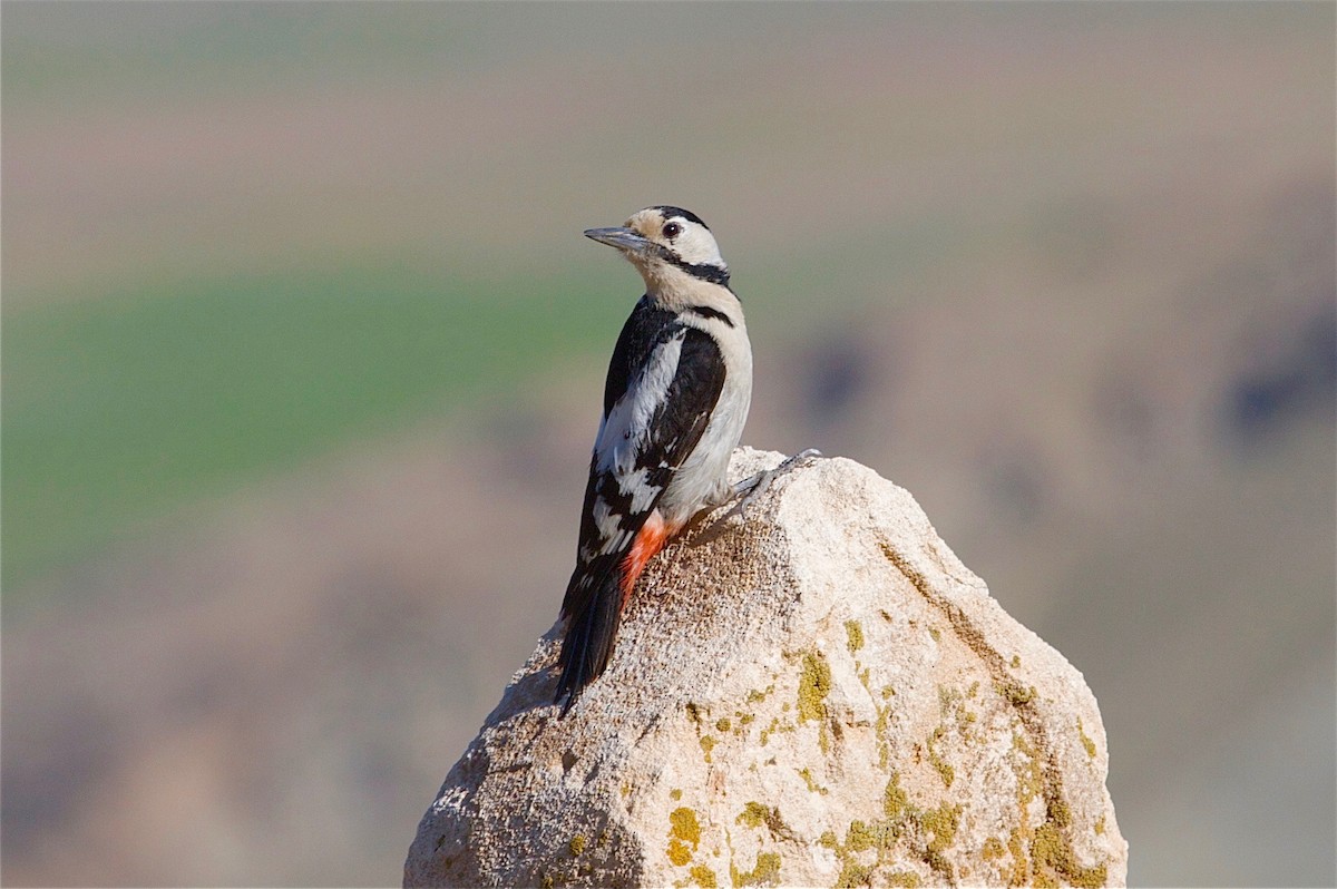
[[[1091,691],[909,493],[820,460],[725,516],[651,563],[566,719],[539,642],[406,886],[1123,884]]]

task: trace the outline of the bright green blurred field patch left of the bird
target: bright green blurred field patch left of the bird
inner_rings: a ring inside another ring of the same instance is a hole
[[[336,442],[616,337],[624,281],[408,269],[162,283],[32,303],[3,332],[4,586]],[[623,299],[624,301],[624,299]]]

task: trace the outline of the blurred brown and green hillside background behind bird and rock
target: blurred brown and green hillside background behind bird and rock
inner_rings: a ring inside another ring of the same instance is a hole
[[[1333,885],[1332,3],[3,5],[3,880],[390,885],[701,214],[743,441],[1087,678],[1134,884]]]

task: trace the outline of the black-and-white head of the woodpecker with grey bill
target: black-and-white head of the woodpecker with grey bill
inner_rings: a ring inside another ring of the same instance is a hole
[[[706,281],[729,286],[729,266],[701,217],[682,207],[646,207],[615,229],[590,229],[587,238],[616,247],[651,293]]]

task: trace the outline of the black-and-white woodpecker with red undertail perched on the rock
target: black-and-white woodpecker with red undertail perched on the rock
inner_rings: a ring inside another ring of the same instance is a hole
[[[622,610],[646,563],[731,487],[729,457],[751,404],[751,344],[710,229],[681,207],[647,207],[584,233],[618,249],[646,282],[608,364],[562,618],[562,714],[608,664]],[[765,483],[762,483],[763,485]]]

